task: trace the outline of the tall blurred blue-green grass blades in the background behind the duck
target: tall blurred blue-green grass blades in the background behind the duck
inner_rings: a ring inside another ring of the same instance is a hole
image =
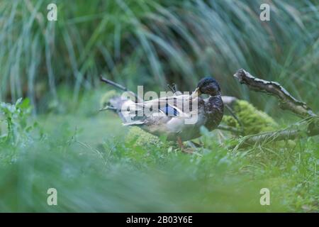
[[[243,67],[319,106],[312,98],[319,84],[315,1],[269,2],[267,22],[258,19],[263,1],[58,0],[55,22],[46,20],[49,3],[1,1],[2,101],[28,95],[35,105],[50,96],[57,106],[57,85],[67,84],[76,102],[101,73],[130,89],[157,90],[167,82],[194,89],[213,74],[223,94],[275,111],[273,99],[231,77]]]

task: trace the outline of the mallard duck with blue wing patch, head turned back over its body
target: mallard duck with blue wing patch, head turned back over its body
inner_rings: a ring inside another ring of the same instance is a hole
[[[101,80],[128,91],[108,79],[101,78]],[[203,99],[201,94],[207,94],[208,98]],[[223,118],[220,86],[212,77],[201,79],[191,94],[175,92],[172,96],[150,101],[142,101],[133,95],[137,98],[136,101],[123,99],[121,96],[111,97],[107,109],[116,111],[125,126],[138,126],[153,135],[164,135],[167,140],[177,140],[179,144],[181,141],[201,136],[201,126],[212,131]],[[197,108],[194,108],[196,104]],[[145,114],[145,110],[151,110],[149,112],[152,113]]]

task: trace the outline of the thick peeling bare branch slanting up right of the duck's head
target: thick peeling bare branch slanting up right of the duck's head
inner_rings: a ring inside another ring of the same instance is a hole
[[[253,77],[249,72],[245,70],[238,70],[234,77],[236,77],[240,84],[246,84],[250,89],[257,92],[264,92],[279,99],[281,109],[292,111],[301,117],[316,116],[313,111],[303,101],[298,101],[291,96],[289,92],[284,89],[277,82],[269,82],[264,79]]]

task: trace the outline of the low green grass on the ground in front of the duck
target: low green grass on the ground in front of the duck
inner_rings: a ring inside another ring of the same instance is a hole
[[[73,114],[32,118],[20,108],[21,139],[0,146],[0,211],[318,211],[318,137],[232,151],[227,133],[203,130],[204,147],[190,155],[163,139],[128,139],[116,115],[96,114],[100,94]],[[58,206],[47,205],[50,187]],[[264,187],[270,206],[259,204]]]

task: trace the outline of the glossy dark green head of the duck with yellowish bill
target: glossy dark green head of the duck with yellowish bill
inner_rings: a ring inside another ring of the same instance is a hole
[[[201,79],[191,96],[192,98],[195,98],[201,94],[208,94],[210,96],[220,95],[220,87],[216,79],[213,79],[213,77],[205,77]]]

